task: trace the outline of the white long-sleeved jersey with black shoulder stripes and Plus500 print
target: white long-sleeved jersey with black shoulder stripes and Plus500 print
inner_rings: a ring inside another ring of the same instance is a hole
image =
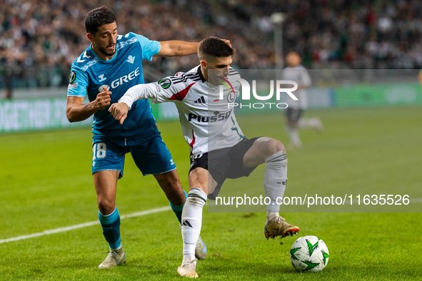
[[[233,103],[239,95],[241,84],[233,81],[236,76],[237,71],[230,68],[230,81],[225,79],[224,86],[214,86],[205,81],[201,66],[198,66],[158,82],[129,88],[119,102],[126,103],[129,109],[141,98],[149,98],[152,103],[174,102],[191,155],[199,155],[232,147],[246,138],[238,126],[233,106],[228,107],[228,103]],[[220,99],[220,86],[223,99]]]

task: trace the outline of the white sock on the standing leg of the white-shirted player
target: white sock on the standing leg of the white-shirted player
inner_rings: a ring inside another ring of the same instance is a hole
[[[184,240],[184,260],[195,259],[195,247],[201,233],[202,209],[206,203],[206,194],[199,188],[193,188],[188,193],[184,210],[181,213],[181,237]]]

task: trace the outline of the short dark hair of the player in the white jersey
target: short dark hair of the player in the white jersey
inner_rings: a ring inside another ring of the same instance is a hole
[[[236,49],[231,48],[222,39],[214,36],[202,40],[198,47],[199,59],[203,59],[205,56],[225,58],[227,56],[233,56],[234,53],[236,53]]]

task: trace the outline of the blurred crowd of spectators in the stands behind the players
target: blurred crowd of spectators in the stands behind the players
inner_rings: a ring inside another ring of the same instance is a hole
[[[90,44],[84,19],[97,6],[115,11],[119,34],[229,39],[237,68],[274,67],[274,12],[285,14],[284,53],[297,51],[310,68],[333,61],[351,68],[422,67],[422,1],[0,0],[0,6],[0,87],[6,88],[19,79],[25,86],[66,84],[71,63]],[[197,63],[188,56],[149,65],[173,74]]]

